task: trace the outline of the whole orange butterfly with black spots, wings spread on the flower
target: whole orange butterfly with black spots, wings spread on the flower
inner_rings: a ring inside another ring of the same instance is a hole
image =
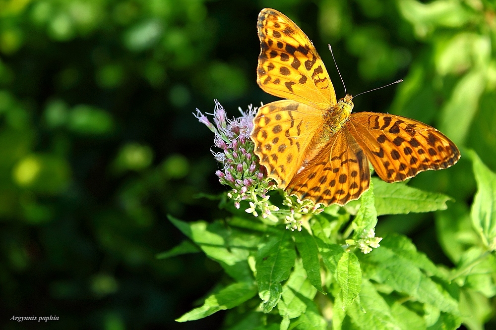
[[[307,35],[281,12],[258,15],[257,83],[285,98],[263,105],[251,139],[268,177],[290,195],[344,205],[370,185],[372,164],[386,182],[454,165],[456,145],[434,127],[388,113],[354,112],[339,101],[324,63]]]

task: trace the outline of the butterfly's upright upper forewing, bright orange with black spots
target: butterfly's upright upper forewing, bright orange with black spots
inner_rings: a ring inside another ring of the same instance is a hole
[[[258,15],[257,83],[267,93],[327,110],[336,94],[324,63],[309,38],[287,16],[274,9]]]

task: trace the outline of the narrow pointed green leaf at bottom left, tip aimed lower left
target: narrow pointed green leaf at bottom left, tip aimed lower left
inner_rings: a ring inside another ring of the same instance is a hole
[[[202,319],[223,309],[236,307],[256,295],[254,283],[238,282],[226,286],[218,293],[209,296],[203,306],[195,308],[182,317],[177,322],[186,322]]]

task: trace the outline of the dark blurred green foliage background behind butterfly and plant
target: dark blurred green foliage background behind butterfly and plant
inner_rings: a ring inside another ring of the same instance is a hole
[[[255,77],[264,7],[307,33],[338,98],[328,43],[348,93],[405,79],[355,99],[357,111],[433,124],[496,169],[494,1],[0,0],[1,329],[221,327],[222,312],[174,322],[221,268],[155,255],[183,239],[167,214],[226,216],[197,196],[225,188],[191,112],[276,99]],[[411,185],[454,197],[455,211],[435,215],[437,233],[432,214],[379,219],[377,233],[406,233],[452,267],[439,223],[467,214],[471,165],[462,156]],[[33,315],[60,320],[8,321]]]

